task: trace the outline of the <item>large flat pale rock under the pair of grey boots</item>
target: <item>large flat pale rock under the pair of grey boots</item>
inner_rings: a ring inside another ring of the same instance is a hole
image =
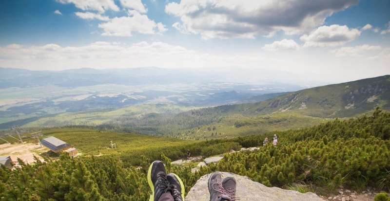
[[[251,181],[248,177],[233,173],[220,172],[222,179],[234,177],[237,182],[236,196],[240,201],[324,201],[314,193],[299,193],[277,187],[267,187],[261,183]],[[208,180],[211,174],[201,177],[191,188],[186,201],[210,201]]]

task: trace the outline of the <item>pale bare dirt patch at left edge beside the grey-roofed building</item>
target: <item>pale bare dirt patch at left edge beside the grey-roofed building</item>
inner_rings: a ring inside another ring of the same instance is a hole
[[[48,151],[46,147],[40,147],[39,144],[23,143],[23,144],[2,144],[0,145],[0,156],[11,156],[12,161],[17,161],[18,158],[27,162],[34,163],[34,155],[40,160],[40,153]]]

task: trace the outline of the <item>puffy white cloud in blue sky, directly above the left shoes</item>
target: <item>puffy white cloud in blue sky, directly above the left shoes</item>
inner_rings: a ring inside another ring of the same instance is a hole
[[[112,18],[106,23],[99,24],[103,29],[103,36],[131,37],[133,32],[141,34],[161,34],[167,29],[159,22],[156,23],[146,15],[135,10],[128,11],[128,17]]]

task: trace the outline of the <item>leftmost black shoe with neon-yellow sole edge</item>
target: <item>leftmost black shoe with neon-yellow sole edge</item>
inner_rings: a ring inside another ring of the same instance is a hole
[[[148,170],[148,183],[152,189],[149,201],[158,201],[160,196],[167,192],[169,182],[164,164],[161,161],[154,161]]]

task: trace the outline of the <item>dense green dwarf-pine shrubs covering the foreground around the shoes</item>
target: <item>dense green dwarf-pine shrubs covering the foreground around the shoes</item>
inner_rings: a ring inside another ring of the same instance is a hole
[[[277,146],[262,146],[264,137],[278,135]],[[0,199],[5,201],[145,201],[151,193],[146,171],[162,160],[183,181],[186,192],[206,173],[228,171],[267,186],[326,194],[340,184],[362,191],[367,186],[390,191],[390,112],[377,108],[371,115],[335,119],[311,128],[269,132],[232,139],[190,141],[168,148],[129,150],[100,157],[84,156],[0,168]],[[260,146],[261,145],[261,146]],[[260,146],[256,151],[230,149]],[[195,174],[190,166],[171,165],[187,149],[203,157],[224,153],[216,164]],[[138,168],[139,167],[139,168]],[[206,189],[205,189],[206,190]]]

